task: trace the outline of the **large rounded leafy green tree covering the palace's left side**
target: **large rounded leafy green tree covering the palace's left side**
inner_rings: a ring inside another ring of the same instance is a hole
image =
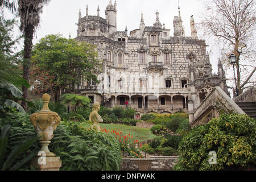
[[[35,88],[50,92],[59,102],[60,90],[79,85],[82,79],[98,82],[101,64],[96,46],[79,43],[61,35],[47,35],[36,44],[32,57]],[[42,87],[44,86],[44,88]]]

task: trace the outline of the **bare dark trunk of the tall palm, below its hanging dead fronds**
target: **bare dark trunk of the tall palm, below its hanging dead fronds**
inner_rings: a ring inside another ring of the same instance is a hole
[[[23,57],[23,78],[29,82],[30,78],[30,64],[31,64],[31,50],[32,40],[34,34],[34,25],[27,23],[24,27],[24,57]],[[23,98],[27,100],[28,88],[22,86]],[[26,111],[27,102],[22,101],[21,106]]]

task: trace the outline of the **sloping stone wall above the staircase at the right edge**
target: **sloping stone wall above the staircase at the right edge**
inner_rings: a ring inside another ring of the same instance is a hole
[[[234,102],[256,102],[256,86],[252,86],[240,96],[233,98]]]

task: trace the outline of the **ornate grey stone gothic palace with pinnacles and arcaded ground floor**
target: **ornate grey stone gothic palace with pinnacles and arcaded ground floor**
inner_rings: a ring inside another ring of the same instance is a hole
[[[74,91],[110,108],[125,107],[128,102],[141,114],[189,113],[214,86],[227,92],[222,65],[218,64],[218,75],[213,75],[205,40],[197,38],[193,16],[187,37],[180,8],[178,13],[171,36],[171,30],[160,23],[158,11],[153,26],[145,26],[141,14],[139,28],[129,35],[127,27],[117,31],[116,2],[113,5],[110,0],[105,18],[99,7],[97,16],[88,15],[88,6],[84,17],[80,11],[76,40],[95,44],[103,65],[102,73],[95,73],[100,84],[84,79]]]

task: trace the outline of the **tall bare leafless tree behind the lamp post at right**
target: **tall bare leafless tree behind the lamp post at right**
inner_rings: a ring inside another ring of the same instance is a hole
[[[222,59],[236,55],[236,86],[239,94],[251,81],[256,67],[255,28],[256,3],[254,0],[207,1],[207,11],[200,24],[207,36],[214,36],[222,46]],[[249,64],[245,64],[245,63]],[[255,78],[253,78],[255,79]],[[233,88],[233,93],[235,88]]]

